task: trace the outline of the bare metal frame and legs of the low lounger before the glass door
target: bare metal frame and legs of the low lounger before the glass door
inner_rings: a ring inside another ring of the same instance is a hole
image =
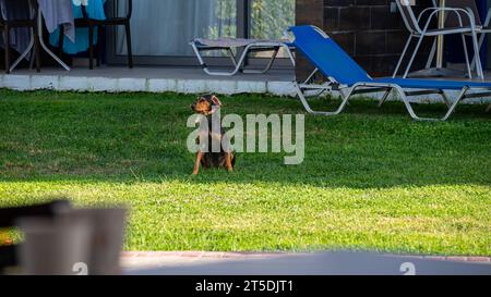
[[[256,41],[251,42],[244,47],[212,47],[212,46],[199,46],[197,40],[193,40],[190,42],[190,46],[193,48],[194,53],[196,54],[197,61],[200,62],[200,65],[203,67],[203,71],[208,75],[219,75],[219,76],[233,76],[238,72],[242,73],[266,73],[271,70],[273,66],[273,63],[277,59],[278,52],[280,48],[285,49],[285,52],[288,54],[288,59],[291,61],[291,64],[295,67],[295,58],[291,53],[290,46],[288,46],[287,42],[273,42],[273,41]],[[243,48],[242,52],[239,54],[239,59],[237,59],[233,55],[233,48]],[[208,65],[204,61],[204,58],[201,55],[201,52],[203,51],[211,51],[211,50],[226,50],[229,53],[229,58],[233,64],[232,71],[212,71],[209,70]],[[270,62],[267,63],[266,67],[264,70],[246,70],[246,59],[249,53],[251,52],[259,52],[259,51],[273,51],[273,55],[270,59]]]

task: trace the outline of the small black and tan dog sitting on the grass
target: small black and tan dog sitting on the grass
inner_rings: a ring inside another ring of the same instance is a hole
[[[221,124],[218,119],[216,124],[219,125],[218,128],[212,128],[212,117],[213,114],[221,108],[221,102],[215,95],[204,95],[197,98],[197,101],[191,106],[191,109],[199,114],[203,114],[207,120],[207,128],[203,133],[207,135],[200,135],[196,139],[196,144],[200,145],[200,138],[207,137],[207,150],[199,150],[196,152],[196,162],[194,163],[193,174],[196,175],[200,171],[200,165],[204,169],[209,168],[225,168],[228,171],[233,171],[236,164],[236,157],[231,152],[229,139],[226,138],[225,131],[221,128]],[[216,133],[219,132],[219,133]],[[219,152],[214,152],[212,144],[213,141],[219,141]],[[225,146],[227,147],[224,147]]]

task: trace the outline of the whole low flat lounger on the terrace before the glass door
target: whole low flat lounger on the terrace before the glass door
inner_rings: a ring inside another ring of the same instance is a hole
[[[243,39],[243,38],[221,38],[221,39],[203,39],[196,38],[190,42],[190,46],[193,48],[194,53],[196,54],[197,61],[200,65],[203,67],[203,71],[208,75],[221,75],[221,76],[232,76],[238,72],[242,73],[267,73],[273,63],[275,62],[279,49],[285,49],[285,52],[288,54],[288,58],[291,61],[291,64],[295,66],[295,59],[291,53],[291,42],[286,40],[261,40],[261,39]],[[239,59],[233,55],[233,49],[238,49],[238,52],[241,50],[241,54]],[[202,52],[211,51],[211,50],[226,50],[229,53],[229,58],[233,64],[232,71],[212,71],[208,65],[205,63],[204,58],[202,57]],[[266,67],[262,71],[256,70],[244,70],[246,59],[251,52],[265,52],[273,51],[273,54],[267,63]]]

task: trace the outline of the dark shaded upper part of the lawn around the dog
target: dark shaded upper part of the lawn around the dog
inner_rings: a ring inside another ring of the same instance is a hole
[[[459,106],[445,123],[415,122],[400,102],[354,100],[332,117],[307,115],[306,159],[240,153],[236,172],[191,177],[185,127],[194,96],[1,91],[0,182],[309,184],[319,187],[491,184],[491,122],[483,104]],[[224,113],[303,113],[298,100],[224,96]],[[334,99],[314,99],[333,109]],[[440,103],[418,104],[422,115]]]

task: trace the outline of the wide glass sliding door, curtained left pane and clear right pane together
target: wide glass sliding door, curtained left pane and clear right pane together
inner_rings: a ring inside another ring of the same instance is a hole
[[[125,1],[110,2],[116,3],[110,12],[125,14]],[[189,46],[193,38],[277,39],[294,18],[295,0],[133,0],[133,55],[136,64],[196,65]],[[108,62],[123,63],[124,29],[108,37]],[[219,51],[211,54],[212,64],[229,64]]]

